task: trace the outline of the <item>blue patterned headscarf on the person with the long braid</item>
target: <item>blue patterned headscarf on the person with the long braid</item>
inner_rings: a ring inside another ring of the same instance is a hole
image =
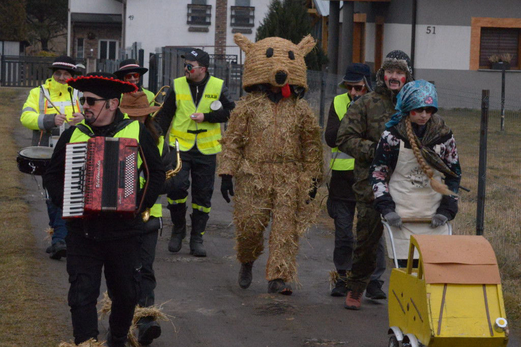
[[[417,80],[405,84],[398,93],[395,109],[398,111],[386,123],[386,129],[398,124],[407,117],[410,110],[420,107],[435,107],[438,111],[438,93],[434,84],[426,80]]]

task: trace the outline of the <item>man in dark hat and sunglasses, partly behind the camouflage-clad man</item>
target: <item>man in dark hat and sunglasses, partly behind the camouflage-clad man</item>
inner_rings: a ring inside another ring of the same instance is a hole
[[[336,146],[338,128],[346,110],[351,103],[359,97],[371,91],[371,71],[365,64],[353,63],[348,65],[345,75],[338,86],[348,92],[334,97],[327,121],[324,138],[331,147],[331,181],[327,200],[328,214],[334,219],[334,250],[333,263],[338,276],[331,290],[331,296],[345,296],[347,272],[351,271],[353,264],[353,219],[355,214],[356,199],[353,192],[355,182],[353,169],[355,159]],[[386,294],[381,290],[383,281],[380,280],[386,270],[384,240],[380,239],[377,249],[376,269],[371,275],[367,286],[366,296],[370,299],[386,299]]]

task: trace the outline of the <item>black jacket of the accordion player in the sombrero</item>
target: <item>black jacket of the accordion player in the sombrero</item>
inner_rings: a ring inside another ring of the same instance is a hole
[[[114,135],[114,129],[117,124],[123,120],[123,114],[117,110],[116,118],[110,125],[104,127],[91,127],[96,136],[111,137]],[[51,157],[51,163],[47,167],[47,171],[43,176],[45,188],[51,197],[52,202],[63,207],[64,196],[64,177],[65,177],[65,149],[66,144],[70,141],[73,131],[76,127],[70,127],[61,134],[58,143]],[[140,123],[139,144],[146,160],[150,178],[148,187],[144,196],[143,207],[152,207],[157,200],[157,196],[163,187],[165,181],[165,169],[157,144],[154,142],[152,135],[146,130],[145,126]],[[138,196],[141,201],[141,196]],[[141,213],[133,219],[123,219],[115,214],[105,214],[93,218],[73,218],[67,219],[67,230],[69,232],[82,233],[84,237],[94,240],[108,240],[129,237],[133,234],[143,232]]]

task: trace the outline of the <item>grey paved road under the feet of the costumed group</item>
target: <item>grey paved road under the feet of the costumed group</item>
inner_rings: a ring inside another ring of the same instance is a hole
[[[20,128],[15,132],[20,148],[30,145],[29,131]],[[64,325],[62,341],[69,341],[72,326],[67,306],[66,261],[53,261],[45,253],[49,244],[43,241],[48,220],[45,203],[29,175],[24,177],[24,183],[28,188],[26,200],[33,211],[28,223],[38,241],[35,256],[42,263],[39,280],[63,293],[63,311],[57,324]],[[188,241],[184,241],[179,253],[168,252],[171,223],[168,210],[164,209],[166,225],[157,243],[155,293],[156,304],[164,303],[164,312],[170,316],[171,323],[162,323],[162,336],[152,346],[387,345],[386,300],[364,298],[361,311],[349,311],[343,308],[343,298],[329,295],[333,230],[324,226],[314,226],[301,240],[297,260],[302,286],[294,287],[293,295],[267,293],[266,254],[254,264],[251,287],[240,289],[237,283],[240,265],[233,250],[232,204],[222,199],[219,184],[220,179],[216,179],[212,212],[204,236],[206,258],[189,255]],[[266,233],[266,244],[267,236]],[[383,278],[386,292],[389,273],[387,270]],[[101,339],[106,327],[108,320],[104,319],[100,323]],[[519,344],[511,341],[509,345]]]

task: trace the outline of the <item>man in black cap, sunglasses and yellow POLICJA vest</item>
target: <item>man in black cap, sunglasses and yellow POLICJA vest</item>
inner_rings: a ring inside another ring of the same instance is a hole
[[[205,257],[203,234],[214,191],[216,157],[221,151],[219,123],[228,120],[234,103],[229,100],[224,81],[209,75],[208,53],[195,48],[181,57],[185,59],[185,76],[173,81],[173,88],[155,117],[164,134],[171,124],[169,143],[174,146],[176,139],[179,140],[183,163],[181,171],[172,178],[173,189],[167,194],[173,224],[168,250],[179,252],[186,235],[186,202],[191,177],[193,213],[190,215],[190,254]],[[217,100],[222,109],[212,111],[210,104]],[[176,155],[176,151],[170,153]],[[171,162],[175,163],[175,158]]]

